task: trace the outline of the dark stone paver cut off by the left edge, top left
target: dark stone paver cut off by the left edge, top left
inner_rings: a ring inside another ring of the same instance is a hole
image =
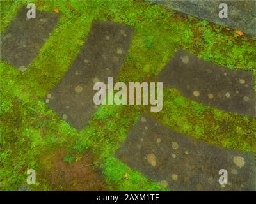
[[[1,34],[1,60],[26,71],[58,22],[55,13],[36,10],[36,18],[27,18],[22,6],[16,17]]]

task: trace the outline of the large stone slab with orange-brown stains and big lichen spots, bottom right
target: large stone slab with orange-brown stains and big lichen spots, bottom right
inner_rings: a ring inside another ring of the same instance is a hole
[[[132,169],[175,191],[255,191],[255,158],[182,135],[143,115],[116,156]],[[219,171],[227,170],[227,185]]]

